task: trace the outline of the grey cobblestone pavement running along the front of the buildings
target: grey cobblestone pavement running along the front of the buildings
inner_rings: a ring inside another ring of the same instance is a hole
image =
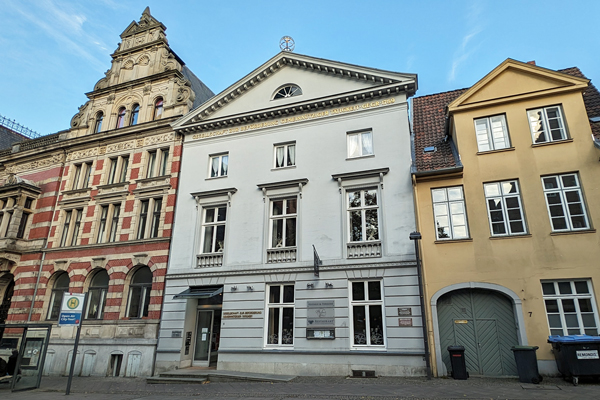
[[[44,377],[40,389],[11,392],[0,386],[2,400],[65,399],[67,378]],[[516,379],[471,378],[467,381],[424,378],[346,379],[343,377],[299,377],[287,383],[210,382],[207,384],[147,384],[143,378],[74,378],[71,399],[203,400],[258,399],[600,399],[600,384],[583,381],[573,386],[558,378],[541,385],[522,384]]]

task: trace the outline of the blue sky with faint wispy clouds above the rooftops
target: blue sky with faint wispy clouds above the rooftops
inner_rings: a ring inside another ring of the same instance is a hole
[[[504,61],[578,66],[600,85],[600,1],[0,0],[0,115],[69,127],[150,6],[171,48],[215,93],[279,52],[417,73],[417,96],[473,85]]]

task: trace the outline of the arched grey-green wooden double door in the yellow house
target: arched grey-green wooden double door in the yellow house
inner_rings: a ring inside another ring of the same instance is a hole
[[[510,348],[519,344],[512,301],[491,290],[462,289],[438,300],[442,359],[448,371],[448,346],[465,347],[471,375],[517,375]]]

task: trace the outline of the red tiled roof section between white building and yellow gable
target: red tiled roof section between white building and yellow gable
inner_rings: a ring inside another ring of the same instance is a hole
[[[451,140],[446,137],[446,107],[467,89],[414,97],[412,100],[414,164],[416,172],[438,171],[460,165],[452,151]],[[426,147],[435,146],[433,153],[423,153]]]

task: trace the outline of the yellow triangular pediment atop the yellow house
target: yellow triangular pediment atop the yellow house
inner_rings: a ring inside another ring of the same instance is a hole
[[[587,79],[509,58],[450,103],[448,109],[456,111],[552,92],[580,90],[587,84]]]

